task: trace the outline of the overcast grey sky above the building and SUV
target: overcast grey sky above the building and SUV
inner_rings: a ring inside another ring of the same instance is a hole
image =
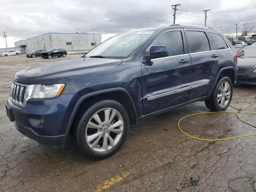
[[[14,41],[32,38],[48,32],[78,32],[111,34],[131,28],[166,26],[173,22],[172,4],[181,4],[176,23],[204,25],[202,10],[211,9],[207,26],[228,26],[234,23],[256,22],[256,6],[250,10],[214,13],[256,5],[255,0],[0,0],[0,48],[6,47],[3,31],[7,32],[8,47]],[[229,20],[226,22],[226,20]],[[233,22],[238,20],[238,22]],[[244,21],[241,21],[244,20]],[[214,21],[214,22],[210,22]],[[221,22],[222,21],[222,22]],[[223,22],[225,21],[225,22]],[[224,33],[235,27],[218,27]],[[242,29],[239,26],[238,31]],[[255,28],[256,29],[256,28]]]

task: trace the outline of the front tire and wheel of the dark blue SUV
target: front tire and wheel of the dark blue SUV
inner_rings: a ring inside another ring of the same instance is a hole
[[[112,121],[106,124],[105,110],[109,112],[106,113],[109,118],[114,116]],[[87,158],[91,160],[107,158],[116,153],[124,144],[129,130],[129,117],[122,104],[114,100],[104,100],[93,104],[80,114],[72,127],[71,139]],[[99,117],[96,118],[98,120],[96,121],[93,116]],[[115,124],[116,127],[113,127]],[[106,145],[104,145],[104,140]]]

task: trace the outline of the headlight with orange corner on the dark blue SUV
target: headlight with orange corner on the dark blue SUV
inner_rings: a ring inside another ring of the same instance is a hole
[[[29,85],[26,89],[25,99],[30,98],[53,98],[59,96],[64,90],[65,84],[38,84]]]

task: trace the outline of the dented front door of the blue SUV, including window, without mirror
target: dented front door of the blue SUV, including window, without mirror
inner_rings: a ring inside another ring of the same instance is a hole
[[[144,114],[150,114],[188,101],[191,59],[184,31],[170,30],[160,34],[152,45],[165,45],[169,56],[144,62],[142,58],[142,95]],[[151,45],[151,46],[152,46]],[[150,47],[144,54],[149,54]]]

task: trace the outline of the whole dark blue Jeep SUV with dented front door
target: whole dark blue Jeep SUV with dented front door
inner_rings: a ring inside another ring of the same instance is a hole
[[[82,58],[29,68],[13,78],[6,110],[41,144],[68,138],[91,159],[114,154],[129,125],[205,101],[223,111],[232,99],[237,55],[218,30],[171,25],[109,38]]]

